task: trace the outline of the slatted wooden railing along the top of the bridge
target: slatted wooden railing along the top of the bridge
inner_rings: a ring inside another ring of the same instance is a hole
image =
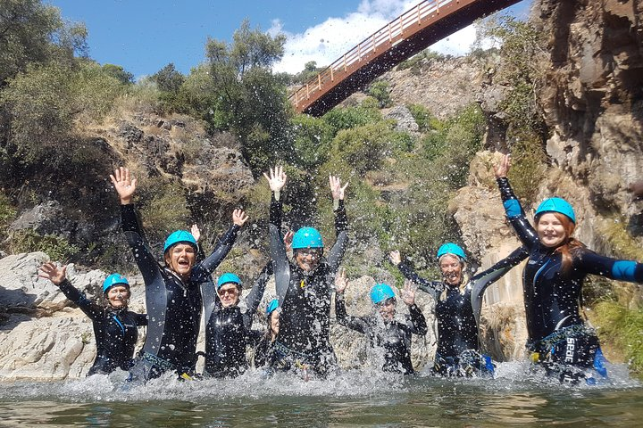
[[[422,3],[414,6],[394,21],[375,33],[371,37],[365,38],[361,43],[355,45],[350,51],[345,53],[341,58],[332,62],[326,69],[321,70],[317,76],[308,80],[304,86],[299,87],[292,95],[289,96],[290,102],[296,107],[316,95],[327,84],[334,84],[336,79],[346,78],[355,70],[361,67],[362,62],[368,61],[373,57],[386,51],[405,38],[405,33],[413,33],[413,26],[422,25],[422,21],[435,19],[440,12],[440,8],[447,4],[459,4],[460,0],[424,0]]]

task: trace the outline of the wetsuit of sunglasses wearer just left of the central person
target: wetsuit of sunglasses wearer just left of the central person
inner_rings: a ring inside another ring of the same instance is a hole
[[[205,303],[205,374],[235,377],[248,367],[246,346],[254,346],[258,333],[251,330],[253,317],[272,275],[272,263],[263,268],[245,301],[223,308],[213,289],[204,290]],[[213,283],[205,283],[214,287]]]

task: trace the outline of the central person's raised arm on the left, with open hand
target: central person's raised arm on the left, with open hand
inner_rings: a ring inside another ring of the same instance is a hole
[[[263,174],[268,180],[271,189],[270,222],[268,234],[270,236],[270,251],[272,259],[272,270],[275,276],[275,289],[280,306],[283,305],[290,284],[290,265],[286,253],[286,244],[281,237],[281,189],[286,185],[286,174],[282,167],[270,169],[270,175]]]

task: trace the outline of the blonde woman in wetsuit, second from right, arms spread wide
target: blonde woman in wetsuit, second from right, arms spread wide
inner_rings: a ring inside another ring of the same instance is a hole
[[[428,281],[402,261],[399,251],[390,253],[391,263],[436,302],[438,349],[432,368],[434,374],[493,374],[491,358],[480,354],[478,326],[482,296],[490,284],[526,258],[527,251],[520,247],[507,258],[469,279],[463,249],[455,243],[445,243],[438,249],[438,264],[443,279]]]

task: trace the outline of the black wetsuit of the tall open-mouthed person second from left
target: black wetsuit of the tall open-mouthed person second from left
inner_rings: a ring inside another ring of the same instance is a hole
[[[146,381],[166,371],[194,374],[196,339],[201,322],[200,284],[225,258],[237,238],[239,226],[232,225],[221,237],[213,254],[192,268],[184,283],[171,269],[163,268],[146,245],[134,205],[121,205],[122,228],[146,284],[149,317],[142,357],[130,371],[132,380]]]

